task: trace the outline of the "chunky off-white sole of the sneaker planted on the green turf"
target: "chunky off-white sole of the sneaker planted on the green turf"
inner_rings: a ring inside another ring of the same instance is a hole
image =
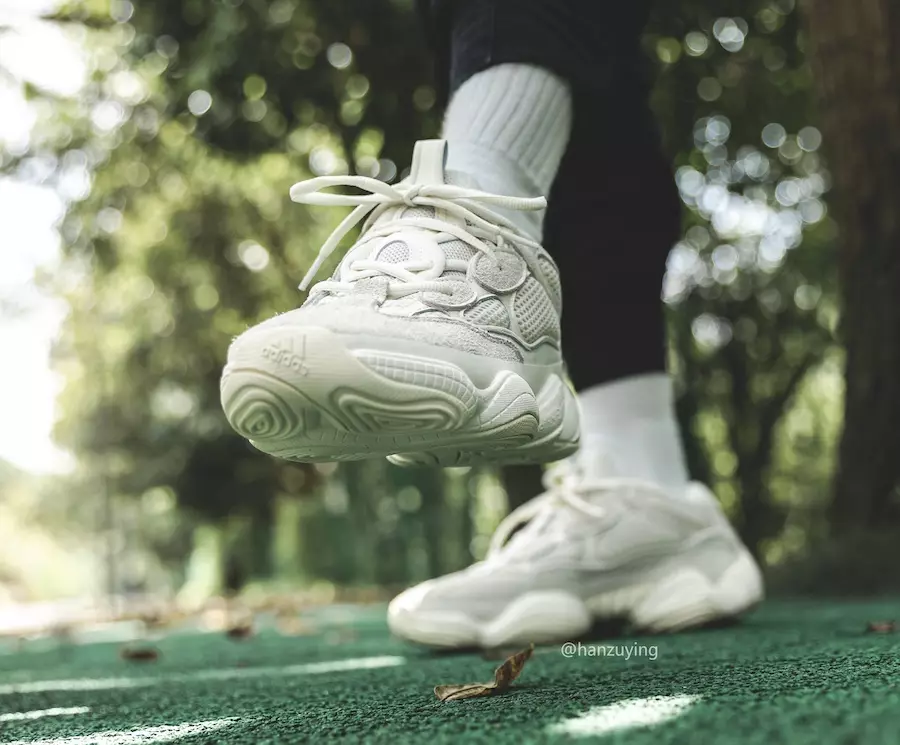
[[[597,622],[625,617],[640,631],[665,633],[736,618],[763,598],[762,576],[743,548],[715,582],[697,569],[680,568],[650,586],[636,586],[587,600],[563,591],[526,593],[487,623],[461,613],[418,613],[393,605],[391,631],[408,641],[439,648],[496,649],[511,644],[576,639]]]

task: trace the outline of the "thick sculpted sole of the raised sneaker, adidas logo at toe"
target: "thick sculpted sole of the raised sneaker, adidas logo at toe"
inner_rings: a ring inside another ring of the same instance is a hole
[[[532,463],[578,448],[577,404],[560,375],[535,392],[502,370],[479,388],[452,363],[351,350],[324,328],[275,327],[235,345],[221,395],[235,431],[287,460]]]

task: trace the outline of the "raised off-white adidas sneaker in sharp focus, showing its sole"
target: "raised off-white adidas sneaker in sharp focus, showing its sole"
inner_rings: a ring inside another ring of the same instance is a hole
[[[543,198],[446,183],[446,143],[419,142],[411,175],[322,177],[294,201],[353,205],[304,280],[356,223],[360,240],[297,310],[239,336],[222,404],[257,448],[300,461],[558,460],[578,447],[560,354],[559,275],[544,249],[491,206]],[[365,195],[323,194],[353,186]]]

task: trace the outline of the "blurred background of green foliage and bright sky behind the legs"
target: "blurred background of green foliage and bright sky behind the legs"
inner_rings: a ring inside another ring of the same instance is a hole
[[[693,474],[775,591],[878,592],[898,492],[833,487],[839,232],[801,15],[678,0],[646,31],[685,213],[671,369]],[[435,101],[410,1],[0,0],[0,631],[388,597],[540,491],[538,468],[278,462],[219,408],[229,341],[299,305],[339,219],[290,185],[396,179]]]

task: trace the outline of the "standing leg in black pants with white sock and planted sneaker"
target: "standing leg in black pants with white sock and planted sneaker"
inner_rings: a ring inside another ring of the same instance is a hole
[[[454,108],[472,81],[510,66],[534,80],[533,68],[543,68],[569,90],[573,125],[562,164],[550,162],[544,241],[561,268],[582,444],[548,472],[544,496],[500,525],[483,562],[395,598],[392,630],[434,646],[504,647],[571,639],[600,619],[673,631],[745,611],[762,595],[759,570],[711,492],[688,484],[665,374],[660,285],[679,204],[646,104],[638,47],[646,3],[437,8],[450,37],[451,159],[454,138],[471,137]],[[490,100],[493,111],[514,105],[502,89]]]

